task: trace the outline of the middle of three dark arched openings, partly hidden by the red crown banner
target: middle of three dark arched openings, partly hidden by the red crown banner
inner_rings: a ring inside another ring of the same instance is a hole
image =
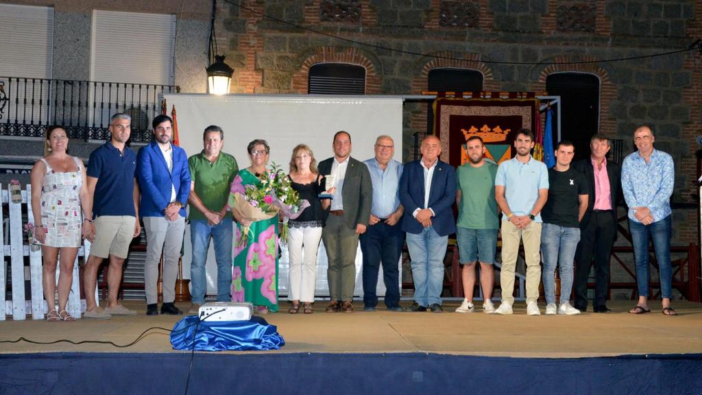
[[[432,69],[428,75],[428,91],[479,92],[482,91],[483,75],[477,70],[441,68]],[[434,109],[429,103],[427,110],[427,133],[434,132]]]

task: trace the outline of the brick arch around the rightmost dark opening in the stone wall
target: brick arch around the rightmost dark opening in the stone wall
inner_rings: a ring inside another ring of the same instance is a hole
[[[590,57],[573,57],[573,56],[555,56],[550,59],[543,60],[550,64],[538,65],[532,69],[534,74],[538,73],[538,79],[531,84],[531,89],[537,92],[546,91],[546,79],[549,75],[561,72],[581,72],[585,74],[595,75],[600,79],[600,124],[598,125],[600,133],[605,136],[616,136],[616,119],[611,116],[609,111],[612,101],[616,99],[616,87],[609,78],[609,72],[600,63],[578,63],[578,64],[562,64],[567,62],[576,62],[583,60],[596,60]],[[534,75],[533,74],[533,75]]]

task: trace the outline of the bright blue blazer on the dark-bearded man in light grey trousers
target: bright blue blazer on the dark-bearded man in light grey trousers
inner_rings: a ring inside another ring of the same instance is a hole
[[[185,150],[173,144],[173,171],[161,153],[159,144],[152,141],[136,155],[136,176],[141,190],[139,216],[164,216],[171,202],[171,188],[176,188],[176,200],[183,204],[180,215],[185,216],[187,196],[190,195],[190,169]]]

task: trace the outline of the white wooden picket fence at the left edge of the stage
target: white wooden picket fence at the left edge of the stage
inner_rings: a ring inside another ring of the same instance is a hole
[[[31,314],[33,320],[42,320],[48,309],[44,300],[44,289],[41,273],[41,249],[32,251],[29,248],[27,235],[22,223],[22,206],[27,207],[27,218],[34,222],[32,215],[31,186],[27,185],[22,190],[22,203],[13,203],[10,198],[10,186],[7,188],[0,186],[2,205],[9,207],[9,221],[4,219],[4,214],[0,210],[0,320],[5,320],[6,316],[12,315],[13,320],[25,320]],[[9,229],[9,232],[8,232]],[[9,233],[9,234],[8,234]],[[10,242],[8,245],[7,242]],[[81,313],[86,309],[85,299],[80,299],[80,278],[78,272],[78,257],[87,256],[90,253],[90,242],[84,242],[84,246],[78,250],[76,261],[73,265],[73,283],[68,296],[66,310],[75,318],[80,318]],[[31,299],[26,299],[25,295],[25,257],[29,257],[29,283],[31,285]],[[6,278],[7,271],[5,258],[10,257],[12,268],[12,300],[6,300]],[[60,268],[56,268],[56,280]]]

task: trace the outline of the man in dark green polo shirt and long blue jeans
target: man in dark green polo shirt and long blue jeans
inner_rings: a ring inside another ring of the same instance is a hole
[[[192,261],[190,283],[192,306],[189,314],[197,314],[205,302],[205,263],[210,238],[215,242],[217,259],[217,301],[230,302],[232,287],[232,213],[227,200],[230,185],[239,166],[232,155],[221,152],[224,131],[208,126],[203,134],[204,150],[188,160],[190,185],[190,240]]]

